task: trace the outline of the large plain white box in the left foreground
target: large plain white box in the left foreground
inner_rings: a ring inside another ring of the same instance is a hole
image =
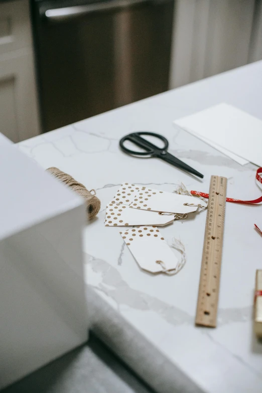
[[[0,389],[87,340],[80,197],[0,134]]]

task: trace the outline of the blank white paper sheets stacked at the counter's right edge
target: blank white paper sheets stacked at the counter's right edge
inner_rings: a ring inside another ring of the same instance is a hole
[[[262,121],[221,103],[174,121],[240,165],[262,166]]]

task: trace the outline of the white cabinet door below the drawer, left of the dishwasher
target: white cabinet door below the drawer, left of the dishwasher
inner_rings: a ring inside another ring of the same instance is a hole
[[[13,142],[39,134],[32,50],[0,57],[0,131]]]

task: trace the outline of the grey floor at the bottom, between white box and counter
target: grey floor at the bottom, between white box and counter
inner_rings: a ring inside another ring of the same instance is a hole
[[[88,343],[1,393],[154,393],[92,333]]]

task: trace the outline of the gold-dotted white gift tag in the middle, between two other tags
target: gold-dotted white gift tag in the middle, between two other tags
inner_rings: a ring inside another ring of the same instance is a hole
[[[174,221],[174,215],[160,215],[156,211],[133,209],[123,203],[109,203],[106,206],[105,226],[159,225]]]

